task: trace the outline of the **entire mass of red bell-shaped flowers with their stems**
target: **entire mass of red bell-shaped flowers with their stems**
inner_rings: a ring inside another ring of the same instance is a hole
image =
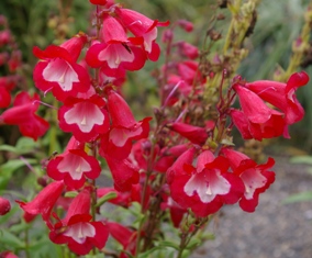
[[[174,42],[174,30],[168,29],[163,35],[166,63],[157,78],[160,108],[154,110],[152,126],[149,116],[135,119],[122,83],[127,71],[158,59],[157,27],[168,22],[111,0],[90,3],[97,5],[96,33],[79,32],[60,45],[33,48],[40,59],[33,72],[35,87],[52,94],[55,122],[70,137],[65,150],[43,166],[47,184],[32,201],[16,201],[24,220],[30,223],[41,215],[49,239],[77,255],[96,248],[104,253],[111,235],[123,247],[119,257],[126,258],[157,246],[153,242],[161,235],[160,223],[168,223],[167,213],[186,236],[223,205],[238,203],[243,211],[254,212],[259,194],[275,181],[275,160],[257,164],[235,150],[232,130],[235,125],[244,139],[289,137],[288,126],[304,115],[296,90],[309,76],[296,72],[286,83],[246,82],[239,76],[230,81],[219,56],[198,61],[200,51]],[[185,20],[172,27],[192,31]],[[49,126],[35,113],[38,105],[37,93],[20,92],[0,123],[19,125],[23,135],[37,139]],[[113,187],[97,184],[104,167]],[[5,201],[0,198],[1,215],[9,209]],[[129,227],[102,216],[100,206],[107,201],[123,209],[140,203],[140,225]]]

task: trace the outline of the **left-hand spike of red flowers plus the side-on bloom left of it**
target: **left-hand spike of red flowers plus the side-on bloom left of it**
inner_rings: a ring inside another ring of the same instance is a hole
[[[71,137],[65,152],[46,162],[47,176],[55,181],[32,201],[18,201],[26,222],[41,214],[51,231],[51,240],[67,244],[79,255],[94,247],[102,249],[112,227],[104,221],[94,221],[90,213],[91,204],[96,205],[91,197],[97,192],[101,197],[92,184],[102,170],[97,154],[107,161],[114,188],[121,192],[133,189],[134,200],[140,201],[140,188],[135,187],[140,168],[132,162],[130,153],[134,141],[148,137],[152,117],[136,121],[115,86],[124,81],[126,70],[138,70],[147,59],[158,59],[157,26],[168,25],[120,4],[96,4],[102,5],[96,14],[97,23],[101,23],[98,37],[80,32],[62,45],[33,48],[40,58],[33,72],[35,86],[44,96],[51,92],[62,104],[57,110],[58,125]],[[83,48],[88,48],[85,56]],[[8,124],[19,120],[15,124],[21,132],[36,139],[45,132],[40,125],[46,125],[34,114],[38,103],[37,94],[31,98],[22,92],[14,108],[3,112],[1,119]],[[64,206],[62,199],[68,190],[78,195]],[[53,212],[56,206],[67,210],[63,220]]]

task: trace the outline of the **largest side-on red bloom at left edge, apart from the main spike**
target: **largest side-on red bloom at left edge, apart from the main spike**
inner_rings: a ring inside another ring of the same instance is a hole
[[[0,123],[19,125],[22,135],[37,139],[48,128],[48,123],[35,114],[38,109],[38,94],[30,97],[27,92],[21,92],[15,97],[13,108],[5,110],[0,115]]]

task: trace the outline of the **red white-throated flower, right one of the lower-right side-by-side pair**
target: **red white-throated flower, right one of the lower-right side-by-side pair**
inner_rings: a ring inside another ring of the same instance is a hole
[[[272,158],[264,165],[257,165],[246,155],[233,149],[223,148],[222,154],[230,161],[234,175],[241,177],[245,184],[245,192],[239,200],[239,206],[245,212],[254,212],[258,205],[259,194],[265,192],[275,181],[275,173],[267,171],[275,164]]]

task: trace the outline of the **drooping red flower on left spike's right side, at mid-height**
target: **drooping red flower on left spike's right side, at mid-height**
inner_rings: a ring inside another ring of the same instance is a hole
[[[109,135],[102,137],[100,154],[124,159],[133,141],[148,137],[152,117],[136,122],[125,100],[114,91],[109,92],[108,109],[112,124]]]

